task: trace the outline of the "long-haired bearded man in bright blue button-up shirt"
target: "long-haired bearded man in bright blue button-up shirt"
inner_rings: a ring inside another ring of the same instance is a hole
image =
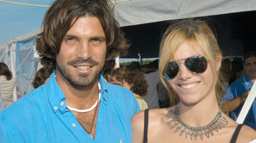
[[[139,105],[99,73],[128,44],[105,0],[56,0],[37,39],[48,83],[0,113],[0,142],[132,142]],[[100,102],[99,102],[100,101]]]

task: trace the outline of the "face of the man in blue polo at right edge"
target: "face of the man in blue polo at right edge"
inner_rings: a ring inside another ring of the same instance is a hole
[[[250,80],[256,79],[256,56],[249,57],[245,60],[244,69]]]

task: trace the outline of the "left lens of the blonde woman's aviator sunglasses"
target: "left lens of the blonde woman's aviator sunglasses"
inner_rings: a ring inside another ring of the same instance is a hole
[[[179,72],[179,65],[177,62],[168,62],[165,68],[165,75],[163,75],[166,79],[174,78]]]

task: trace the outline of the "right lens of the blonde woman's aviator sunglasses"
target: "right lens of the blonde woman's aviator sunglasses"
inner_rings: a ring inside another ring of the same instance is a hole
[[[204,56],[192,56],[184,62],[189,71],[203,73],[207,69],[207,60]]]

